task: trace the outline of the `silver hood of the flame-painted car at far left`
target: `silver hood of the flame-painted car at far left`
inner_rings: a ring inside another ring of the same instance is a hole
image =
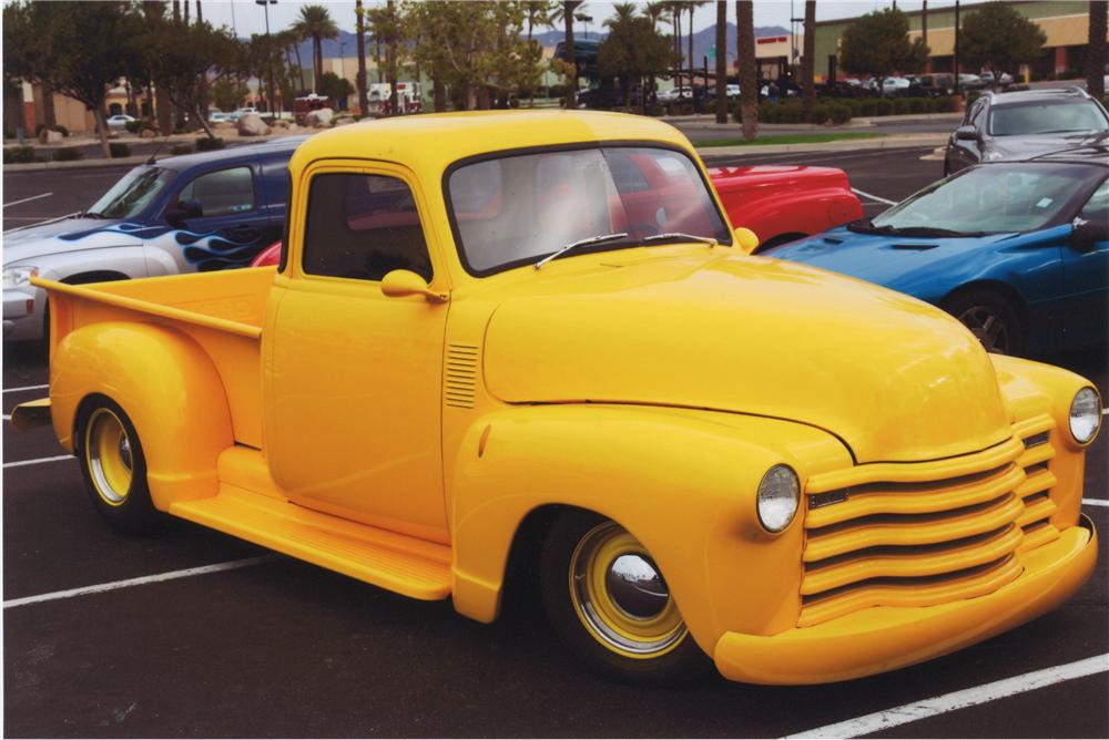
[[[62,218],[3,235],[4,265],[77,249],[142,246],[144,227],[118,219]],[[163,229],[165,230],[165,229]]]

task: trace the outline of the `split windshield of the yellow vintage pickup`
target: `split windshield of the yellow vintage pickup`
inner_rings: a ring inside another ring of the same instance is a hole
[[[475,275],[533,264],[574,241],[613,234],[627,237],[570,254],[639,246],[660,234],[732,241],[696,166],[671,150],[507,155],[458,167],[447,191],[460,257]],[[681,238],[651,244],[668,240]]]

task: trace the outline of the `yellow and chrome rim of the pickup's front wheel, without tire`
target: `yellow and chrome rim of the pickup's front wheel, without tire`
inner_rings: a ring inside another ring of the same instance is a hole
[[[570,556],[570,599],[604,647],[629,658],[658,658],[678,647],[685,623],[647,548],[613,522],[581,538]]]

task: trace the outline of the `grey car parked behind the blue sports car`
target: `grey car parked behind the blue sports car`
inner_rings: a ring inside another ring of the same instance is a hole
[[[1080,88],[987,93],[948,140],[944,174],[1071,148],[1107,130],[1109,113]]]

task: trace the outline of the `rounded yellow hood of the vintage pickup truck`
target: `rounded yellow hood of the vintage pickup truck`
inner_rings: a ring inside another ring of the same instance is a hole
[[[978,341],[901,294],[720,253],[539,279],[539,295],[506,298],[487,327],[486,383],[509,403],[788,419],[837,435],[859,463],[947,458],[1011,435]]]

